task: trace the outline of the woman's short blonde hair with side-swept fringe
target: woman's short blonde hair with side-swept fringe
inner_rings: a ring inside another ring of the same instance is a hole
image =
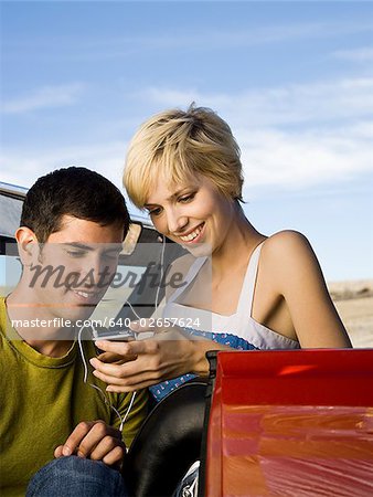
[[[129,144],[124,186],[142,209],[156,180],[182,182],[196,173],[209,178],[225,197],[242,201],[239,147],[230,126],[213,110],[164,110],[145,121]]]

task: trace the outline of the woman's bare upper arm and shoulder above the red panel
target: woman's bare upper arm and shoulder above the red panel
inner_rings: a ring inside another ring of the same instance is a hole
[[[263,256],[275,292],[285,299],[300,346],[351,347],[308,240],[298,232],[283,231],[266,241]]]

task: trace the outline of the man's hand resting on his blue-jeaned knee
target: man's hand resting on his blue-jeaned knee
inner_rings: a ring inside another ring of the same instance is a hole
[[[83,421],[63,445],[54,451],[54,457],[70,456],[103,461],[109,466],[120,465],[126,453],[121,433],[104,421]]]

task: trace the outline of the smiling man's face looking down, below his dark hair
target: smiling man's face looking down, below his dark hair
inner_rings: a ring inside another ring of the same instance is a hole
[[[64,215],[30,267],[43,318],[87,319],[115,275],[121,242],[122,226]]]

